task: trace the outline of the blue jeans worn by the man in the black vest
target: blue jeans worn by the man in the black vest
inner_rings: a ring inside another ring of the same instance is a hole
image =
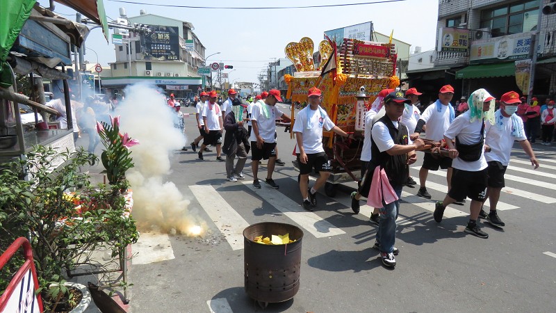
[[[403,186],[392,186],[398,198],[402,195]],[[378,225],[377,242],[380,245],[380,252],[391,253],[394,250],[395,243],[395,219],[398,218],[398,211],[400,210],[400,200],[396,200],[390,204],[384,203],[384,207],[380,208],[379,216],[380,223]]]

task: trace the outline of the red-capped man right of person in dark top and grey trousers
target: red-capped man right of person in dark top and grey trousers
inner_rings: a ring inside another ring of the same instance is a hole
[[[276,119],[281,118],[290,122],[291,118],[282,113],[276,104],[282,102],[280,91],[272,89],[268,92],[268,97],[259,100],[254,104],[251,115],[253,129],[249,140],[251,141],[251,166],[253,169],[253,186],[261,188],[257,172],[259,172],[259,161],[268,159],[267,174],[265,184],[272,188],[279,186],[272,179],[276,162]]]

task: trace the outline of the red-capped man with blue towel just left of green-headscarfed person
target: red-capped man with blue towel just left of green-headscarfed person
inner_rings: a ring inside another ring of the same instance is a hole
[[[450,123],[455,119],[454,108],[450,105],[452,97],[454,97],[454,88],[452,86],[445,85],[440,89],[439,99],[436,100],[436,103],[427,106],[427,109],[421,114],[415,127],[415,132],[411,135],[412,140],[419,137],[425,125],[427,127],[425,130],[425,138],[432,141],[441,141],[444,138],[446,129],[448,129]],[[417,193],[419,197],[425,199],[431,198],[425,184],[427,183],[429,170],[439,170],[439,168],[447,169],[446,182],[448,182],[448,190],[450,190],[450,184],[452,182],[452,159],[425,153],[423,157],[423,166],[421,166],[419,170],[420,188]],[[463,202],[457,202],[457,204],[463,205]]]

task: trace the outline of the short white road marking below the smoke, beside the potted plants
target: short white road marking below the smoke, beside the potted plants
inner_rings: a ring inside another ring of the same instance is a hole
[[[133,243],[133,254],[131,264],[149,264],[175,259],[170,237],[154,231],[141,233],[137,242]]]

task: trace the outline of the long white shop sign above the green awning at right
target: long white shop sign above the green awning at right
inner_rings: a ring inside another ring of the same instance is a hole
[[[543,31],[539,38],[544,38]],[[500,61],[516,61],[528,58],[531,46],[531,33],[518,33],[471,43],[469,63],[491,63]],[[537,42],[537,53],[544,49],[544,40]]]

